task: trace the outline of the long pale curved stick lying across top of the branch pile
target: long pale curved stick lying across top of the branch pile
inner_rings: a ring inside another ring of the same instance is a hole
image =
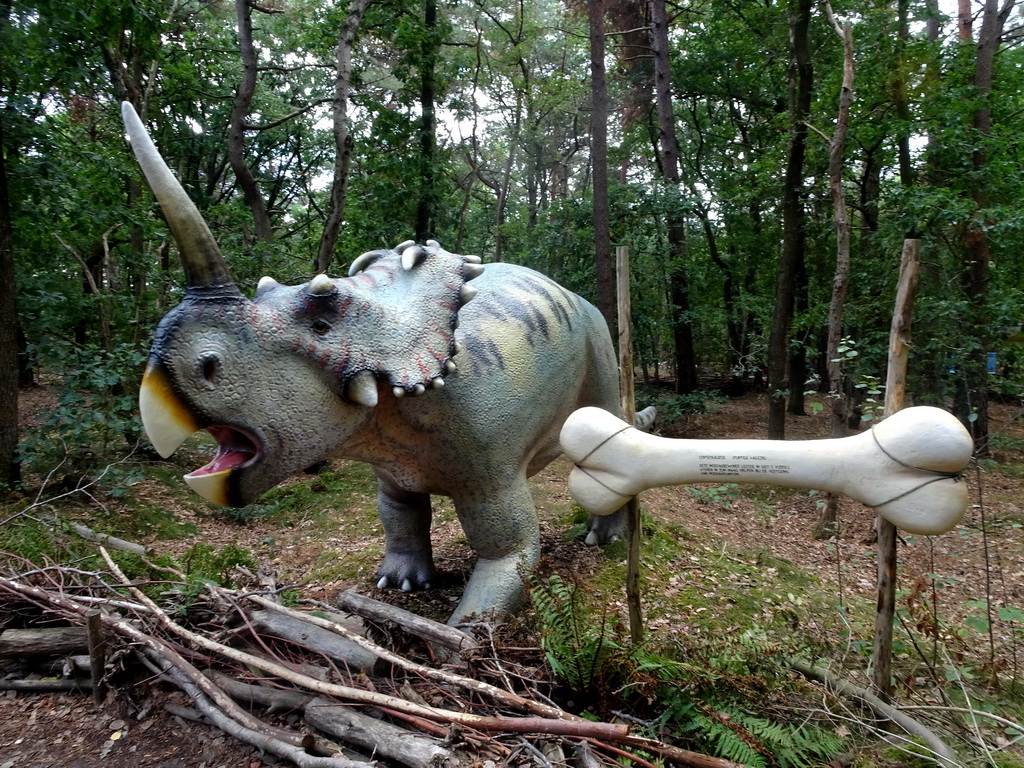
[[[106,561],[108,567],[111,568],[115,575],[123,582],[127,582],[124,574],[118,569],[117,563],[115,563],[106,553],[106,550],[100,548],[99,551],[100,554],[103,555],[103,559]],[[283,680],[288,680],[291,683],[314,690],[317,693],[323,693],[328,696],[348,698],[353,701],[359,701],[361,703],[372,705],[375,707],[389,707],[393,710],[398,710],[399,712],[426,718],[427,720],[458,723],[460,725],[476,728],[481,731],[508,731],[513,733],[543,732],[562,736],[592,736],[594,738],[621,740],[627,735],[629,730],[625,725],[591,723],[583,720],[574,721],[550,720],[545,718],[483,717],[480,715],[455,712],[452,710],[438,710],[433,707],[413,703],[412,701],[408,701],[404,698],[398,698],[397,696],[389,696],[375,691],[364,690],[361,688],[352,688],[350,686],[339,685],[337,683],[326,683],[307,675],[294,672],[276,662],[255,656],[251,653],[246,653],[245,651],[240,651],[236,648],[222,645],[215,640],[211,640],[191,632],[171,620],[171,617],[168,616],[159,605],[143,594],[141,590],[134,587],[129,587],[129,589],[132,594],[135,595],[137,600],[147,605],[151,610],[153,610],[160,624],[179,637],[188,640],[201,648],[206,648],[207,650],[220,653],[221,655],[227,656],[228,658],[239,662],[240,664],[249,665],[250,667],[269,675],[274,675]]]

